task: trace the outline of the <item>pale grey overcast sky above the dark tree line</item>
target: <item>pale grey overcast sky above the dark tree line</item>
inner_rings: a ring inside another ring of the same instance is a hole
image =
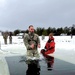
[[[0,0],[0,30],[70,27],[75,24],[75,0]]]

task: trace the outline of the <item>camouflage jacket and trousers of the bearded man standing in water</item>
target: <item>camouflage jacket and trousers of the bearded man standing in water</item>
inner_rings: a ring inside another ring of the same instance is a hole
[[[27,48],[27,57],[39,57],[39,53],[38,53],[38,50],[37,50],[37,45],[40,44],[40,39],[39,39],[39,36],[37,34],[26,34],[24,35],[24,44]],[[31,44],[34,44],[35,47],[34,49],[32,49],[30,47]]]

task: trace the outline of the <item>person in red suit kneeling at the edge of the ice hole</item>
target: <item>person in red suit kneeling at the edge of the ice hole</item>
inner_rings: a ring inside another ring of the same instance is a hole
[[[41,50],[41,53],[46,56],[48,54],[52,54],[55,51],[55,42],[54,42],[54,37],[53,33],[49,34],[49,39],[45,44],[45,49]]]

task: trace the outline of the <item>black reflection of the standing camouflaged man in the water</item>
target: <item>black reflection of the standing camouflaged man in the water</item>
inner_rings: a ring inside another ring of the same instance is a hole
[[[38,61],[33,60],[28,64],[26,75],[40,75],[40,65]]]

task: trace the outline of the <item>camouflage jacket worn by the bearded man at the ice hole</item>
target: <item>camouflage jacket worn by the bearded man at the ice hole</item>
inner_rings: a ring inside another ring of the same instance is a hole
[[[28,34],[25,33],[23,41],[27,50],[34,50],[34,49],[37,50],[37,45],[40,44],[39,36],[35,33],[33,36],[30,35],[29,33]],[[34,49],[30,47],[32,43],[35,45]]]

